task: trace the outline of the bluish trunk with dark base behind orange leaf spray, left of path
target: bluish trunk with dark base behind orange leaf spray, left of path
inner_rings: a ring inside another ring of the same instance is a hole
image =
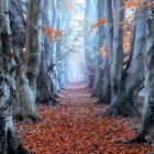
[[[56,3],[55,1],[43,1],[43,25],[48,25],[48,29],[55,30],[56,22]],[[50,10],[52,8],[52,10]],[[51,34],[52,35],[52,34]],[[53,37],[52,37],[53,38]],[[37,80],[37,102],[52,105],[55,103],[54,79],[53,76],[56,66],[55,64],[55,43],[46,36],[42,37],[42,59]],[[50,42],[51,41],[51,42]]]

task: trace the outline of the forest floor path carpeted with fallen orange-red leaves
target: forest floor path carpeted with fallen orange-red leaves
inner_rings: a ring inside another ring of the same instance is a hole
[[[70,82],[61,105],[36,105],[41,123],[15,123],[24,147],[35,154],[154,154],[152,145],[123,144],[139,131],[135,120],[95,118],[108,106],[95,105],[90,95],[82,82]]]

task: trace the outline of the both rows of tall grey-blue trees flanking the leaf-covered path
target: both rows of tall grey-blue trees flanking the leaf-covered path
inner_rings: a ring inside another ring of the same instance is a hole
[[[77,40],[75,37],[70,50],[64,52],[70,33],[70,8],[72,3],[63,0],[0,1],[2,154],[29,153],[16,138],[13,118],[24,123],[31,122],[30,119],[40,121],[35,102],[54,105],[56,94],[67,81],[66,55],[74,51]],[[125,22],[127,11],[132,9],[135,10],[134,18]],[[107,111],[98,117],[139,116],[138,96],[143,87],[146,89],[141,133],[128,141],[130,143],[144,141],[154,123],[153,13],[151,0],[86,0],[84,35],[87,35],[85,58],[88,84],[92,88],[92,96],[99,97],[98,103],[109,103]],[[66,16],[67,20],[64,20]],[[97,31],[90,37],[86,30],[91,20],[97,22],[89,32],[94,29]],[[61,40],[57,35],[63,35],[61,30],[66,33],[62,42],[57,42]]]

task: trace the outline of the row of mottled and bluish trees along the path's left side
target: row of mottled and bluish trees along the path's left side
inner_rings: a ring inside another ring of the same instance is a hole
[[[43,25],[65,30],[62,8],[62,0],[0,1],[1,154],[29,153],[16,138],[13,118],[40,121],[35,102],[56,103],[56,94],[67,81],[62,43],[42,35]]]

